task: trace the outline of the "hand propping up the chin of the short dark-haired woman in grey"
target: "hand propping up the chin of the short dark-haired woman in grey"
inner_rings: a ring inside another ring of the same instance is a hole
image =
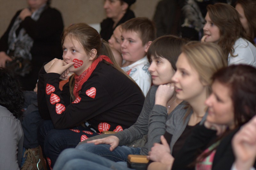
[[[173,84],[168,83],[166,85],[159,85],[159,87],[156,90],[155,104],[166,107],[167,102],[171,100],[173,94],[174,94]]]

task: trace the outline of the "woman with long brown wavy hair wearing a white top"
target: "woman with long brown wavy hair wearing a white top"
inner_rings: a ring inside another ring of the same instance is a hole
[[[230,64],[256,67],[256,47],[241,24],[239,13],[228,4],[207,5],[203,42],[218,44]]]

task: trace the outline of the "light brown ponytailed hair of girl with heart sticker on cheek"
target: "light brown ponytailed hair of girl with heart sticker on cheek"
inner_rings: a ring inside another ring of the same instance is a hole
[[[90,55],[92,49],[97,50],[97,57],[100,55],[106,55],[110,58],[113,64],[110,64],[106,61],[103,60],[103,62],[112,65],[116,70],[122,72],[127,78],[129,78],[133,83],[135,81],[127,75],[116,63],[116,60],[114,58],[114,55],[112,53],[111,48],[108,46],[108,43],[100,37],[100,34],[92,28],[91,26],[85,24],[85,23],[78,23],[71,25],[65,30],[65,34],[62,37],[62,44],[64,43],[64,40],[67,36],[70,36],[71,39],[76,39],[81,46],[84,48],[84,51],[86,54]],[[69,86],[70,86],[70,95],[72,100],[75,99],[75,96],[73,94],[74,86],[75,86],[75,81],[74,81],[75,75],[72,75],[69,81]],[[136,83],[135,83],[136,84]],[[136,84],[137,85],[137,84]],[[137,85],[138,86],[138,85]],[[139,87],[139,86],[138,86]]]

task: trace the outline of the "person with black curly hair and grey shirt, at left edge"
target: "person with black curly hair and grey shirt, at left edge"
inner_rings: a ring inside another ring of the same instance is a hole
[[[24,96],[19,81],[0,68],[0,169],[19,169],[23,131],[20,121]]]

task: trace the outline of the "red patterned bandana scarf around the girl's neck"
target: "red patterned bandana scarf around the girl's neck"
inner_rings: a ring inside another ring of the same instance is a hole
[[[106,55],[100,55],[96,60],[92,62],[92,65],[90,65],[90,67],[87,70],[85,70],[80,76],[75,75],[75,87],[74,87],[73,94],[76,98],[79,96],[79,91],[81,90],[84,82],[88,80],[93,70],[96,68],[98,63],[102,60],[105,60],[108,63],[113,64]]]

